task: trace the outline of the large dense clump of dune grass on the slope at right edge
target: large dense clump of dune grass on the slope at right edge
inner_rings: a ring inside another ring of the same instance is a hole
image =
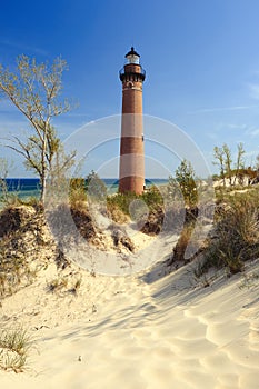
[[[213,238],[200,272],[226,267],[229,275],[237,273],[247,260],[259,257],[259,196],[255,191],[236,193],[217,208]]]

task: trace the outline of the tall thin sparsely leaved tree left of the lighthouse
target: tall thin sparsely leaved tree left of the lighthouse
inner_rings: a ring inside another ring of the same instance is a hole
[[[61,142],[51,120],[70,110],[68,100],[60,101],[62,73],[67,62],[57,58],[51,66],[36,59],[18,57],[14,72],[0,64],[0,92],[28,119],[32,134],[23,141],[13,137],[7,144],[24,158],[28,169],[37,172],[41,183],[41,201],[46,194],[46,180]],[[74,154],[67,156],[71,160]],[[66,164],[66,163],[64,163]]]

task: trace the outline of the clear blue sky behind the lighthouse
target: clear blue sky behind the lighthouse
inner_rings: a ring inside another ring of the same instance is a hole
[[[223,142],[233,153],[243,142],[251,164],[259,153],[258,14],[257,0],[2,1],[0,62],[11,68],[21,53],[40,62],[60,54],[68,61],[62,96],[79,107],[53,122],[66,139],[90,121],[120,113],[118,71],[133,44],[147,71],[143,112],[186,131],[212,171],[213,147]],[[27,128],[0,100],[1,134]],[[148,138],[149,129],[145,132]],[[157,154],[147,150],[162,159],[159,148]],[[28,176],[21,160],[8,153],[12,176]],[[91,163],[89,171],[96,168]],[[111,168],[106,176],[116,173]]]

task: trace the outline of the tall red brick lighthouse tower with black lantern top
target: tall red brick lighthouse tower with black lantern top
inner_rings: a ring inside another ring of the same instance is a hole
[[[133,48],[124,57],[126,64],[120,71],[122,119],[119,191],[140,194],[145,186],[142,83],[146,72]]]

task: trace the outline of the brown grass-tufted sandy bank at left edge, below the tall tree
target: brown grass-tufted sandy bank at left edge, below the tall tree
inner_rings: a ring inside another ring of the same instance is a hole
[[[7,207],[0,213],[0,296],[12,295],[34,280],[40,248],[49,240],[43,217],[34,208]]]

